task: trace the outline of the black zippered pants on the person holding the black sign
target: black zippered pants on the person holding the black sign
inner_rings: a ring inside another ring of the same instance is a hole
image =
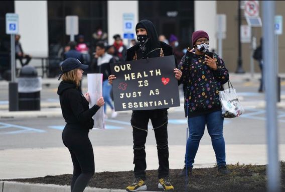
[[[133,163],[134,176],[146,179],[146,151],[145,144],[148,135],[148,123],[151,119],[155,132],[158,158],[159,178],[169,175],[169,151],[168,151],[168,112],[167,109],[133,111],[131,115],[131,126],[133,136]]]

